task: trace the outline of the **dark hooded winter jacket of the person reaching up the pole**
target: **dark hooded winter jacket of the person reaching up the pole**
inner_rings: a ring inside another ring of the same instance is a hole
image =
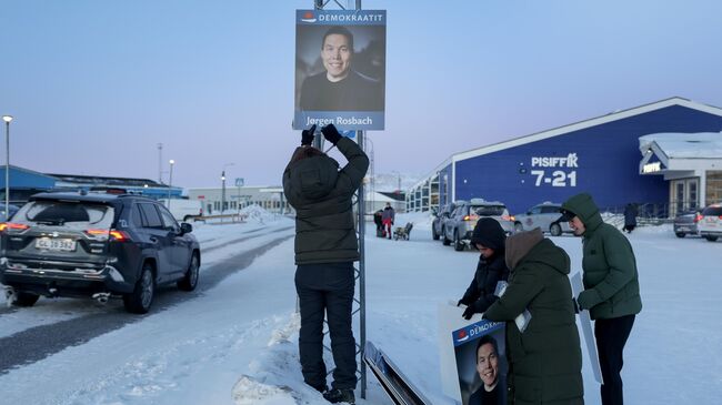
[[[283,193],[295,209],[295,264],[338,263],[359,260],[352,196],[369,169],[369,158],[348,138],[337,143],[349,163],[327,155],[301,158],[293,152],[283,172]]]

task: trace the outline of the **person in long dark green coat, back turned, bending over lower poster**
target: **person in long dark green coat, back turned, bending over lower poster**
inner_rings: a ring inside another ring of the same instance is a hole
[[[509,285],[483,317],[507,322],[508,404],[583,404],[569,256],[537,227],[509,236],[505,257]]]

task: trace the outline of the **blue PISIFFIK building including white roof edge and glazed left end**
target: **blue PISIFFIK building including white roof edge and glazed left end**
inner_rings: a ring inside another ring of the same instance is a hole
[[[481,198],[504,202],[510,212],[519,213],[583,191],[602,209],[630,202],[669,205],[674,198],[671,179],[644,175],[640,138],[720,130],[722,109],[681,98],[662,100],[457,153],[410,190],[407,206],[425,211]],[[675,176],[680,173],[683,171],[678,170]],[[704,184],[699,179],[696,184],[698,204],[704,204]]]

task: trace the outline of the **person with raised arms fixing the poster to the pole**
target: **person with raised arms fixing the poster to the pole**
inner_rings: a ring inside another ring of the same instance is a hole
[[[339,163],[311,146],[315,125],[303,131],[301,146],[283,172],[283,192],[295,209],[295,290],[301,307],[299,354],[303,381],[331,403],[354,403],[355,341],[351,328],[359,241],[352,210],[353,193],[369,169],[363,150],[329,124],[321,130],[349,163]],[[333,353],[332,389],[327,391],[323,363],[323,315]]]

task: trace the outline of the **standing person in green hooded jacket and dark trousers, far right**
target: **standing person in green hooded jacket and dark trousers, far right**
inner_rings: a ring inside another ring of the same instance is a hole
[[[634,317],[642,311],[639,274],[632,245],[616,227],[604,223],[588,193],[576,194],[562,204],[562,221],[569,221],[574,235],[582,236],[584,291],[576,302],[594,320],[596,351],[602,369],[603,405],[622,405],[624,344]]]

